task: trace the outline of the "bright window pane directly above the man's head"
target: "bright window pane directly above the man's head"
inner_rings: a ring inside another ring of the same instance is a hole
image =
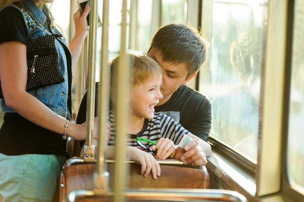
[[[169,23],[186,24],[187,1],[186,0],[163,0],[162,2],[162,26]]]

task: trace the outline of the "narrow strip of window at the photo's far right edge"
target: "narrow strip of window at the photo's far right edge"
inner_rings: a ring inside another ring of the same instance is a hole
[[[294,11],[287,167],[291,187],[304,194],[304,2]]]

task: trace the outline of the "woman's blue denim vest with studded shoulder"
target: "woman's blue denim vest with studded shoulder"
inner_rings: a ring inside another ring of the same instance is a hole
[[[33,3],[32,0],[24,0],[23,4],[19,7],[15,5],[9,5],[8,7],[14,7],[23,14],[29,40],[45,35],[61,34],[54,26],[52,22],[53,17],[49,14],[49,9],[47,7],[43,7],[41,10]],[[70,115],[72,116],[72,56],[64,37],[56,38],[55,47],[58,53],[58,63],[64,77],[64,82],[32,90],[28,93],[35,96],[55,113],[66,118],[67,110],[69,110]],[[66,54],[64,50],[68,54]],[[0,106],[3,112],[15,112],[5,104],[5,100],[3,98],[0,99]]]

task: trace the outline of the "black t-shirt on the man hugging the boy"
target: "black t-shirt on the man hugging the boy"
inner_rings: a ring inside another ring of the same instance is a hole
[[[155,112],[163,112],[180,123],[186,130],[204,141],[211,130],[212,109],[210,100],[199,92],[182,85],[171,98]]]

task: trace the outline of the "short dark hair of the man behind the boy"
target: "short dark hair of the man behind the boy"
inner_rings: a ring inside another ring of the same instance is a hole
[[[200,32],[184,24],[168,24],[156,32],[150,48],[160,51],[163,62],[186,64],[188,76],[198,72],[207,59],[207,42]]]

